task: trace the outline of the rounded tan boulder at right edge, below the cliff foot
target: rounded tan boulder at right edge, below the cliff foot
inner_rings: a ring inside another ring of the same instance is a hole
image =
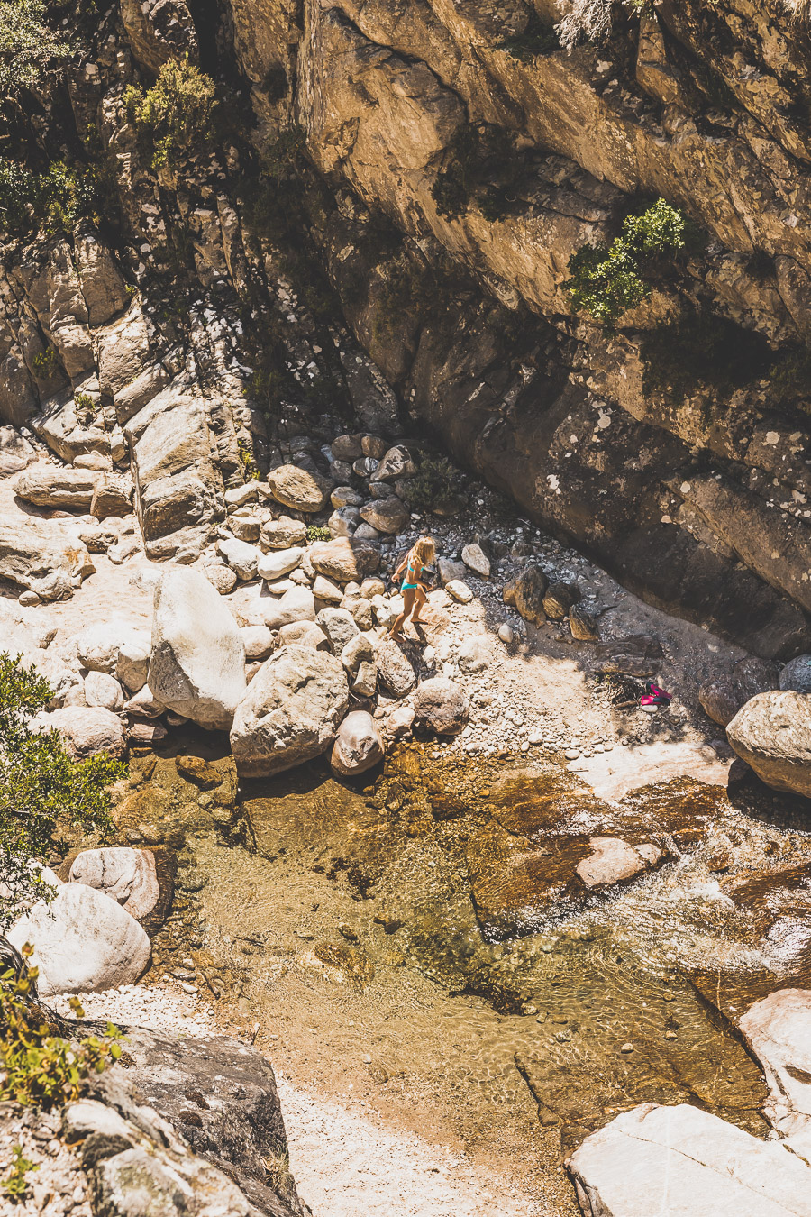
[[[811,798],[811,696],[758,694],[734,716],[727,739],[767,786]]]

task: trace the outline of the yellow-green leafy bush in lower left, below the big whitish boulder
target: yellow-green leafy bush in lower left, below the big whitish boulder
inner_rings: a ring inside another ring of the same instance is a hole
[[[32,952],[30,946],[23,947],[24,957],[30,958]],[[78,1044],[56,1034],[32,1000],[36,974],[35,968],[27,968],[21,976],[13,969],[0,975],[0,1100],[50,1109],[75,1099],[84,1078],[118,1060],[122,1033],[108,1022],[106,1036],[88,1036]],[[78,998],[71,998],[71,1006],[83,1017]]]

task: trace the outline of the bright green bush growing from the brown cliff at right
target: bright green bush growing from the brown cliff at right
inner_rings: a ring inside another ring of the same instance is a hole
[[[574,308],[612,326],[641,304],[651,287],[646,271],[655,258],[685,248],[687,221],[681,212],[658,200],[641,215],[629,215],[610,246],[586,245],[569,259],[564,285]]]

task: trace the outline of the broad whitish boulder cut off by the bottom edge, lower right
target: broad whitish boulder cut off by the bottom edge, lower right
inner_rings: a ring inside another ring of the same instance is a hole
[[[623,1112],[567,1167],[586,1217],[811,1215],[811,1171],[801,1159],[687,1104]]]

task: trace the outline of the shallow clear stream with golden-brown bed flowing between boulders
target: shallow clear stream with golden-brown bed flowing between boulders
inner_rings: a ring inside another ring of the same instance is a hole
[[[199,733],[134,756],[116,819],[167,901],[174,875],[145,983],[195,985],[325,1093],[531,1160],[544,1211],[578,1211],[564,1157],[638,1103],[768,1132],[736,1021],[811,980],[799,800],[678,779],[608,803],[556,756],[424,742],[362,785],[325,762],[238,785]],[[586,887],[595,837],[655,869]]]

